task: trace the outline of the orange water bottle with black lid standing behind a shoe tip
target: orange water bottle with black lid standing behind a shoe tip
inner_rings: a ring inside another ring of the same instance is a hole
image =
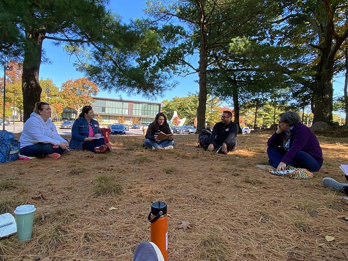
[[[148,220],[151,223],[151,242],[155,243],[167,261],[168,250],[168,216],[167,204],[156,201],[151,204]]]

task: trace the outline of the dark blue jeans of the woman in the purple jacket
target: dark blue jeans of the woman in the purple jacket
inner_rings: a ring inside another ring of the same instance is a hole
[[[278,167],[279,163],[281,163],[284,155],[286,154],[286,151],[281,149],[280,147],[277,148],[267,148],[267,154],[268,154],[268,162],[271,164],[272,167]],[[294,160],[289,163],[289,165],[293,167],[298,168],[306,168],[309,171],[318,171],[321,168],[322,163],[319,163],[315,158],[313,158],[311,155],[309,155],[307,152],[299,151]]]

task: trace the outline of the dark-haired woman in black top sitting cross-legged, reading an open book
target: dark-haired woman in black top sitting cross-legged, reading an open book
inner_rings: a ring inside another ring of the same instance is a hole
[[[159,139],[159,132],[164,134],[171,134],[169,124],[167,123],[167,117],[162,112],[159,112],[155,120],[150,123],[146,135],[144,146],[150,147],[153,150],[170,150],[173,149],[174,140],[173,135],[169,135],[166,139]]]

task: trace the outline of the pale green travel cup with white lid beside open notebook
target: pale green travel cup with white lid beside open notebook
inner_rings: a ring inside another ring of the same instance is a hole
[[[34,205],[21,205],[16,207],[17,236],[19,241],[32,238],[32,223],[36,208]]]

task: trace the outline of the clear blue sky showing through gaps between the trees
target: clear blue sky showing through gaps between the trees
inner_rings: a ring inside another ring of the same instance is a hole
[[[146,7],[146,0],[110,0],[109,6],[115,13],[119,14],[123,21],[127,23],[129,19],[140,18],[144,16],[143,9]],[[51,78],[54,84],[61,87],[62,83],[69,79],[77,79],[84,77],[81,72],[76,71],[73,63],[75,58],[73,56],[69,57],[63,51],[63,45],[54,46],[53,41],[44,40],[43,48],[46,54],[46,58],[49,63],[42,63],[40,67],[39,77],[46,79]],[[198,60],[198,59],[197,59]],[[177,76],[175,78],[179,82],[178,86],[163,94],[163,97],[154,97],[154,99],[143,98],[141,96],[130,96],[127,97],[125,93],[122,94],[123,99],[134,99],[142,101],[156,101],[161,102],[163,99],[172,99],[173,97],[186,97],[189,93],[198,92],[198,74],[191,74],[187,77]],[[334,97],[343,94],[344,78],[337,78],[334,81]],[[116,93],[112,91],[111,93],[100,91],[97,95],[98,97],[108,97],[108,98],[120,98],[121,93]],[[227,106],[231,102],[227,102]]]

